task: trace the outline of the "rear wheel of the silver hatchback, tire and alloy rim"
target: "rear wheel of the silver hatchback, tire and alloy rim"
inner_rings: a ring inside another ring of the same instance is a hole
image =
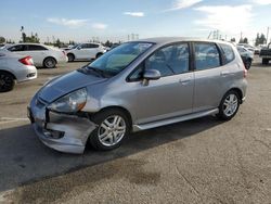
[[[219,105],[219,113],[217,114],[219,119],[230,120],[235,116],[241,104],[240,95],[236,91],[230,90],[222,98]]]

